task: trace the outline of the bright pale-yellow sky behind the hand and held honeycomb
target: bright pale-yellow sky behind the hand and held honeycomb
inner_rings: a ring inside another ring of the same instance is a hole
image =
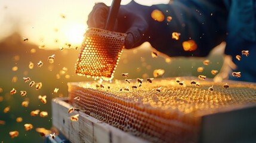
[[[13,33],[19,33],[21,37],[28,38],[28,42],[44,45],[46,49],[60,48],[65,43],[79,46],[95,2],[112,3],[107,0],[1,0],[0,42]],[[123,0],[121,4],[129,2]],[[166,4],[169,0],[136,2],[152,5]]]

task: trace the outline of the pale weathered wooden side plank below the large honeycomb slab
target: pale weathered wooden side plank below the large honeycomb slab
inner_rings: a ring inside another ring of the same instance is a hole
[[[72,106],[65,101],[67,101],[67,98],[55,98],[52,100],[53,126],[60,130],[70,142],[148,142],[82,112],[79,112],[78,122],[72,122],[70,116],[77,113],[76,111],[73,111],[71,114],[67,113],[68,109]]]

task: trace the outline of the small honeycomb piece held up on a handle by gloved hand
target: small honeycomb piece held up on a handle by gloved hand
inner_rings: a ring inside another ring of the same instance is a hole
[[[125,33],[104,29],[87,29],[75,64],[75,73],[94,79],[112,80],[126,36]]]

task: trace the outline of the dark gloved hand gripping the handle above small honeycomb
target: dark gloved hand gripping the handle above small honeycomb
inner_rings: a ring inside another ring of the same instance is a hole
[[[107,5],[95,4],[88,15],[88,27],[104,29],[108,11]],[[134,1],[127,5],[121,5],[114,31],[127,33],[125,48],[130,49],[141,45],[143,42],[150,42],[150,38],[153,39],[152,36],[156,35],[156,27],[161,27],[159,24],[162,23],[153,20],[152,11],[152,7],[137,4]]]

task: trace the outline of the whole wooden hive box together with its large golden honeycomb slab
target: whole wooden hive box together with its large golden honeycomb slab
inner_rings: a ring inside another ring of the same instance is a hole
[[[182,84],[177,83],[177,78],[154,79],[152,83],[144,79],[141,84],[135,79],[131,83],[124,80],[113,83],[68,83],[69,103],[62,102],[66,105],[60,105],[61,110],[53,107],[53,125],[69,139],[72,137],[70,132],[75,138],[81,138],[81,135],[84,137],[90,132],[100,135],[101,138],[96,139],[96,142],[256,141],[254,83],[229,80],[214,83],[194,77],[181,77],[178,80]],[[198,86],[191,84],[192,80]],[[223,87],[226,83],[229,88]],[[78,96],[81,100],[73,100]],[[53,101],[53,104],[56,106],[60,102]],[[71,105],[80,108],[85,114],[79,116],[79,123],[69,122],[69,129],[66,129],[67,126],[62,124],[69,119],[67,109]],[[59,117],[64,118],[63,123]],[[84,118],[97,119],[99,122],[94,125],[111,125],[115,131],[109,127],[96,129],[90,126],[90,129]],[[123,139],[124,136],[129,136],[131,140]],[[93,138],[87,136],[80,142],[95,142]]]

